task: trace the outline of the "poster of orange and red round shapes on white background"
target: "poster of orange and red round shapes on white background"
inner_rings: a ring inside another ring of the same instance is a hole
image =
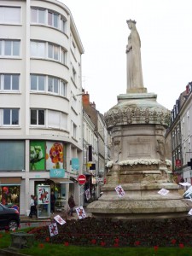
[[[63,143],[46,143],[46,170],[63,169]]]

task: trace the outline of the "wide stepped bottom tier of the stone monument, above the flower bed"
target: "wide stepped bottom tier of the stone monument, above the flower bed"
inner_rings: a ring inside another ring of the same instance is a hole
[[[160,195],[160,189],[168,189],[167,195]],[[96,218],[162,218],[187,216],[192,202],[183,200],[175,183],[124,184],[125,195],[119,197],[113,187],[103,187],[98,201],[88,205],[87,211]]]

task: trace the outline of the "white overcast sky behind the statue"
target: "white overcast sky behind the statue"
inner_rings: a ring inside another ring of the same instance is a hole
[[[125,47],[137,21],[143,83],[157,102],[172,110],[192,81],[191,0],[60,0],[71,10],[79,31],[83,88],[96,109],[107,112],[126,93]]]

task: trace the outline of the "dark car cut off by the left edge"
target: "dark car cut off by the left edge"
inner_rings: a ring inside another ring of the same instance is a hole
[[[0,230],[17,230],[20,225],[20,212],[0,203]]]

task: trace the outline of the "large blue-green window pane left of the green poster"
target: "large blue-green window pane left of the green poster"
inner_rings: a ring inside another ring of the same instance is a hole
[[[22,141],[0,141],[0,171],[25,170],[25,143]]]

